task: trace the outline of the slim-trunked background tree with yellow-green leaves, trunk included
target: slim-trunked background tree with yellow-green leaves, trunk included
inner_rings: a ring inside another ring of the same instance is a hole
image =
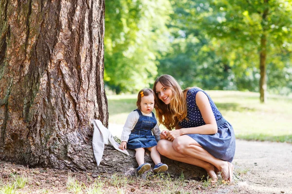
[[[212,0],[206,6],[208,14],[202,20],[202,26],[211,37],[221,40],[223,49],[219,53],[229,63],[250,69],[245,71],[248,74],[257,71],[260,101],[265,102],[267,70],[278,69],[277,72],[285,75],[282,81],[291,78],[291,60],[286,60],[292,52],[289,32],[292,29],[292,1]],[[276,79],[272,77],[274,75],[271,74],[270,80]]]

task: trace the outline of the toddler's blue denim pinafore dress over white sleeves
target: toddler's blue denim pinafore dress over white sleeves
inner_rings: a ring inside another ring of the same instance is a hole
[[[135,111],[139,113],[139,119],[129,135],[127,148],[136,149],[157,146],[155,136],[151,131],[157,124],[154,113],[152,112],[152,116],[145,116],[139,109]]]

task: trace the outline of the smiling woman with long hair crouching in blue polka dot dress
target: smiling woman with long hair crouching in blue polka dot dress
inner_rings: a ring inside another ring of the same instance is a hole
[[[169,129],[160,134],[157,145],[160,154],[204,168],[213,181],[221,172],[222,178],[231,182],[234,130],[209,95],[197,87],[182,91],[170,75],[157,78],[153,90],[157,98],[156,116]]]

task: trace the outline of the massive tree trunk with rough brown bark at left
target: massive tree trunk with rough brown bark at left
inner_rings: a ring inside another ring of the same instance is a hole
[[[105,0],[0,0],[0,160],[94,169]]]

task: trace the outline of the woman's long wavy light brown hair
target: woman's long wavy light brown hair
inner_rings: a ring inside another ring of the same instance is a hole
[[[159,123],[163,124],[166,129],[174,129],[180,121],[186,118],[187,108],[186,100],[179,83],[170,75],[162,75],[156,79],[153,90],[156,91],[156,84],[160,82],[166,89],[172,91],[172,97],[169,104],[165,104],[159,99],[155,92],[155,110]]]

